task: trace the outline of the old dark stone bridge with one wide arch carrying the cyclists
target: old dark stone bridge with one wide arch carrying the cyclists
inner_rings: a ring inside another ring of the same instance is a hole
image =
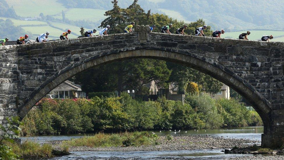
[[[284,43],[148,32],[0,46],[0,124],[24,117],[66,79],[132,58],[172,61],[211,75],[244,96],[264,123],[262,146],[284,137]]]

